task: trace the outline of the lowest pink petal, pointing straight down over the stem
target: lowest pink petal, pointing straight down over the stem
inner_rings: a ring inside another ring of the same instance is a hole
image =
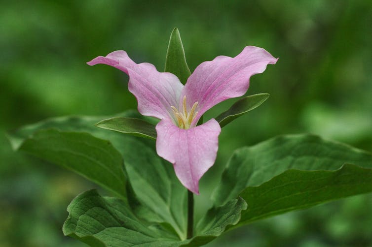
[[[214,164],[218,150],[220,124],[211,119],[189,129],[181,129],[170,120],[156,125],[156,152],[171,162],[181,183],[199,194],[199,180]]]

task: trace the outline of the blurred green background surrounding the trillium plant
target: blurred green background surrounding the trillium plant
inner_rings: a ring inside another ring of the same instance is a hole
[[[246,45],[280,58],[247,93],[270,98],[223,128],[218,161],[201,181],[209,197],[233,150],[278,134],[312,132],[372,151],[371,23],[369,0],[0,1],[0,247],[85,246],[64,237],[62,224],[69,202],[94,185],[14,154],[4,135],[48,117],[137,107],[124,73],[85,62],[126,50],[161,71],[174,27],[191,71]],[[253,223],[208,246],[372,246],[371,226],[368,194]]]

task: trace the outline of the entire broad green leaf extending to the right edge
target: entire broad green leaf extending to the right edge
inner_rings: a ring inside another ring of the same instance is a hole
[[[371,168],[368,152],[314,135],[279,136],[236,150],[212,199],[222,205],[242,196],[248,208],[241,225],[370,192]]]

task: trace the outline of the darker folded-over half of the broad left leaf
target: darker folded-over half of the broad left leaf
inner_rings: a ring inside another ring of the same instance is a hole
[[[70,169],[126,198],[123,158],[108,141],[88,133],[39,130],[20,150]]]

